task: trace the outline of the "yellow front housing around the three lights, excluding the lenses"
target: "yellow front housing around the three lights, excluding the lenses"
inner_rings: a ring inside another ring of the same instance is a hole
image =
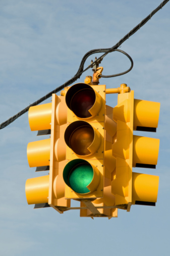
[[[77,84],[76,86],[78,87]],[[74,122],[76,123],[76,121],[82,120],[87,122],[88,125],[90,125],[93,128],[94,139],[92,143],[87,147],[90,154],[78,155],[71,147],[67,146],[66,160],[68,163],[69,161],[72,161],[75,159],[84,159],[92,165],[94,176],[91,183],[88,185],[88,188],[91,192],[86,194],[79,194],[73,191],[69,186],[66,185],[66,190],[65,190],[66,198],[81,199],[81,198],[98,198],[103,196],[105,85],[96,85],[96,86],[93,85],[90,87],[95,92],[95,102],[93,106],[89,109],[91,117],[79,118],[69,108],[68,108],[68,115],[67,115],[68,127],[70,124],[73,124]],[[68,93],[70,93],[69,90],[68,90]],[[70,93],[69,95],[72,95],[72,94]]]

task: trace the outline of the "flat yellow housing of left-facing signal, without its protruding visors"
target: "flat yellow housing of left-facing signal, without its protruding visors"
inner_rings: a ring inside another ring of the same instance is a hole
[[[70,207],[70,200],[65,199],[65,182],[63,179],[63,170],[66,165],[66,143],[64,140],[66,128],[65,96],[52,94],[48,204],[56,211],[59,211],[58,207]]]

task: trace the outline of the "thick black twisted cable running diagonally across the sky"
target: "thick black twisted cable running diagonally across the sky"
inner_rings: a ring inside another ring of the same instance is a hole
[[[90,50],[89,52],[87,52],[84,57],[82,58],[82,61],[80,63],[80,67],[76,73],[76,75],[71,78],[70,80],[68,80],[67,82],[65,82],[64,84],[62,84],[61,86],[55,88],[53,91],[50,91],[48,94],[46,94],[45,96],[41,97],[40,99],[36,100],[34,103],[30,104],[28,107],[26,107],[25,109],[23,109],[22,111],[20,111],[18,114],[16,114],[15,116],[9,118],[7,121],[3,122],[0,125],[0,129],[5,128],[6,126],[8,126],[9,124],[11,124],[12,122],[14,122],[18,117],[22,116],[23,114],[25,114],[30,107],[32,106],[36,106],[38,104],[40,104],[42,101],[44,101],[45,99],[49,98],[52,93],[56,93],[59,92],[60,90],[64,89],[64,87],[69,86],[70,84],[72,84],[73,82],[75,82],[78,78],[80,78],[80,76],[87,71],[89,68],[93,67],[93,65],[99,61],[101,61],[107,54],[114,52],[118,47],[121,46],[121,44],[123,42],[125,42],[130,36],[132,36],[134,33],[136,33],[143,25],[145,25],[146,22],[148,22],[151,17],[157,13],[160,9],[162,9],[162,7],[168,2],[169,0],[164,0],[156,9],[154,9],[145,19],[143,19],[136,27],[134,27],[128,34],[126,34],[117,44],[115,44],[114,46],[110,47],[110,48],[100,48],[100,49],[93,49]],[[103,55],[101,55],[95,62],[93,62],[90,66],[88,66],[86,69],[84,69],[84,63],[87,60],[87,58],[92,55],[92,54],[97,54],[97,53],[104,53]],[[131,62],[132,63],[132,62]],[[129,72],[129,71],[128,71]],[[123,72],[124,74],[124,72]]]

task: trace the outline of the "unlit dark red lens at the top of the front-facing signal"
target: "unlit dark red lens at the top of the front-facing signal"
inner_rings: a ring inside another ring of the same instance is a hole
[[[76,92],[71,100],[71,109],[79,118],[89,118],[89,110],[95,103],[95,92],[93,89],[82,89]]]

